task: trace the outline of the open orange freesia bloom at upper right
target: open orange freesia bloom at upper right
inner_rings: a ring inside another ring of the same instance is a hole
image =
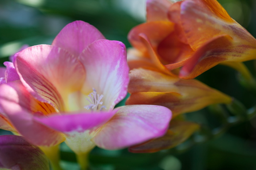
[[[168,72],[183,66],[183,79],[219,63],[255,59],[256,53],[256,39],[217,0],[147,0],[147,22],[128,39],[136,49],[128,53],[131,68],[154,65]]]

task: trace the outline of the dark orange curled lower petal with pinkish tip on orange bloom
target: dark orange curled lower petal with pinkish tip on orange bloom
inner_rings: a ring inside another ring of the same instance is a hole
[[[220,35],[199,48],[180,71],[180,78],[192,79],[221,62],[255,59],[256,48],[235,43],[229,35]]]

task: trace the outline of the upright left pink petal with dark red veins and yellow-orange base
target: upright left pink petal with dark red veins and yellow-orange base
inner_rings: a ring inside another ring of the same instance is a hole
[[[26,48],[14,61],[20,79],[27,90],[41,102],[63,110],[63,100],[79,91],[84,82],[84,68],[69,52],[54,46],[38,45]]]

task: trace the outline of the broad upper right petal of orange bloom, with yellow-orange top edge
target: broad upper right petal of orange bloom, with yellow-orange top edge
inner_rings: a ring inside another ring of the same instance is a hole
[[[181,4],[181,23],[193,50],[220,35],[230,35],[234,41],[256,47],[255,38],[230,18],[216,0],[186,0]]]

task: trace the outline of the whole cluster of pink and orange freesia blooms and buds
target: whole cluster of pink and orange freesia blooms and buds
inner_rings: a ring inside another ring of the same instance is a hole
[[[256,39],[217,0],[147,0],[147,22],[128,39],[127,62],[123,43],[75,21],[52,45],[16,53],[0,68],[0,128],[42,148],[65,141],[78,155],[95,146],[168,149],[199,127],[177,115],[232,101],[193,78],[256,58]],[[126,106],[114,108],[127,90]]]

